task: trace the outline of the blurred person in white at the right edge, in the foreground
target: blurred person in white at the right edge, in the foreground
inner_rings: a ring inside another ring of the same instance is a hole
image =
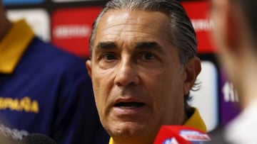
[[[231,143],[256,143],[257,1],[212,0],[218,58],[237,89],[241,114],[226,128]]]

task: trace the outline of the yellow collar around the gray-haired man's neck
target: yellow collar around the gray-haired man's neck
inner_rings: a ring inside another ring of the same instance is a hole
[[[199,111],[196,108],[193,108],[193,115],[188,118],[186,123],[183,126],[191,126],[193,128],[198,128],[198,130],[206,132],[206,125],[203,122],[203,119],[200,116]],[[109,144],[114,144],[114,139],[110,138]]]

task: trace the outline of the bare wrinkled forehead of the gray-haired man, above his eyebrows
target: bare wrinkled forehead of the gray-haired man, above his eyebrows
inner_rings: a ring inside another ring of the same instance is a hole
[[[109,10],[99,21],[95,41],[168,39],[168,16],[157,11]]]

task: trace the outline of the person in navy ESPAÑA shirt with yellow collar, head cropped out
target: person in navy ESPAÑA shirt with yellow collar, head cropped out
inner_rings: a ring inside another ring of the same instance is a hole
[[[1,1],[0,121],[16,141],[29,133],[67,144],[109,140],[84,62],[39,40],[24,20],[8,21]]]

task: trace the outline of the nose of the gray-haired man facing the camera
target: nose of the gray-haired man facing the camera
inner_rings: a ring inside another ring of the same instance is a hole
[[[121,60],[121,63],[116,69],[114,83],[120,87],[137,85],[139,83],[139,77],[135,66],[136,64],[133,64],[130,60]]]

